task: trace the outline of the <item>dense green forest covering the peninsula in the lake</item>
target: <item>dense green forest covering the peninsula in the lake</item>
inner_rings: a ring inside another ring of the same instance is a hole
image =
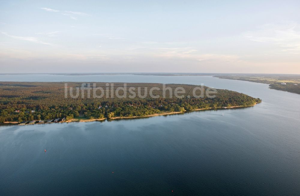
[[[95,83],[96,87],[106,90],[106,83]],[[123,83],[114,83],[114,90],[123,87]],[[81,90],[77,98],[70,97],[70,87],[81,87],[82,83],[69,82],[65,98],[65,88],[62,82],[0,82],[0,122],[4,121],[26,121],[26,120],[47,120],[66,117],[71,118],[111,118],[111,117],[131,117],[146,116],[162,112],[182,112],[201,108],[216,108],[229,106],[249,106],[260,102],[257,98],[247,96],[230,90],[217,89],[216,97],[208,98],[205,93],[203,98],[194,98],[192,91],[195,85],[167,84],[166,96],[163,98],[162,84],[153,83],[127,83],[127,98],[117,98],[116,94],[111,96],[111,87],[102,98],[88,98],[88,90],[84,90],[82,98]],[[92,86],[92,84],[91,84]],[[183,87],[185,92],[182,98],[175,97],[175,88]],[[129,87],[136,88],[129,91]],[[129,98],[132,92],[144,96],[145,98]],[[158,87],[160,90],[153,91],[153,95],[159,98],[152,98],[149,90]],[[171,89],[171,90],[170,90]],[[204,87],[206,90],[207,87]],[[115,92],[115,91],[113,91]],[[172,97],[170,96],[170,93]],[[76,90],[73,90],[73,95]],[[97,92],[99,96],[101,92]],[[119,92],[123,95],[123,91]],[[197,93],[199,94],[199,92]],[[99,106],[102,106],[99,108]]]

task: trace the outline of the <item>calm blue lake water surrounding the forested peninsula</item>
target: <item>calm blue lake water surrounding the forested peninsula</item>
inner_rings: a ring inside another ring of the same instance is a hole
[[[0,75],[0,81],[204,83],[263,101],[143,119],[1,126],[0,195],[300,194],[298,94],[211,76]]]

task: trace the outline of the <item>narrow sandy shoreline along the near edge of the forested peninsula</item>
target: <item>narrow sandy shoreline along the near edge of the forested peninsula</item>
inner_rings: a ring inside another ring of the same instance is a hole
[[[199,108],[199,109],[193,109],[190,111],[199,111],[199,110],[209,110],[209,109],[232,109],[232,108],[245,108],[245,107],[251,107],[251,106],[255,106],[257,103],[261,103],[261,102],[256,102],[253,105],[250,106],[230,106],[230,107],[216,107],[216,108]],[[146,115],[146,116],[124,116],[124,117],[112,117],[112,118],[94,118],[94,119],[78,119],[78,118],[72,118],[68,121],[64,121],[64,122],[58,122],[58,123],[70,123],[70,122],[92,122],[92,121],[104,121],[105,119],[107,120],[116,120],[116,119],[130,119],[130,118],[147,118],[147,117],[154,117],[154,116],[165,116],[165,115],[173,115],[173,114],[183,114],[184,112],[187,112],[186,110],[184,110],[183,112],[163,112],[163,113],[157,113],[157,114],[150,114],[150,115]],[[19,122],[3,122],[5,124],[18,124]],[[44,124],[50,124],[50,123],[44,123]]]

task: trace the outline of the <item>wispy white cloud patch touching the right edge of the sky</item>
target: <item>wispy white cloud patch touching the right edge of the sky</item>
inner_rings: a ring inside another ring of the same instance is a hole
[[[300,51],[300,25],[295,22],[270,23],[257,30],[244,33],[244,37],[256,42],[273,44],[273,50],[283,52]]]

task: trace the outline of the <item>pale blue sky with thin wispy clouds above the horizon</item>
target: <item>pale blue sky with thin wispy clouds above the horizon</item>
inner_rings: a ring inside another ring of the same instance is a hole
[[[300,74],[299,8],[299,0],[0,0],[0,73]]]

